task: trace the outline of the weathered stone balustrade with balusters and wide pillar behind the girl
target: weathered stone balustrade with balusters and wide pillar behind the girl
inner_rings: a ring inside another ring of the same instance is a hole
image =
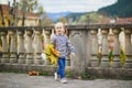
[[[45,65],[41,57],[42,35],[46,40],[45,43],[50,43],[52,29],[53,26],[0,28],[2,52],[0,63]],[[132,24],[66,25],[66,29],[76,48],[76,56],[68,56],[67,65],[76,73],[86,72],[87,68],[132,68]],[[112,64],[108,55],[110,33],[113,36]],[[120,41],[121,33],[124,34],[124,42],[123,38]],[[125,56],[123,65],[120,57],[121,48]]]

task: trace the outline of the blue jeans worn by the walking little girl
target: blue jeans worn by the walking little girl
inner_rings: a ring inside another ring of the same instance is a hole
[[[65,57],[58,57],[57,64],[57,74],[59,75],[61,79],[65,77]]]

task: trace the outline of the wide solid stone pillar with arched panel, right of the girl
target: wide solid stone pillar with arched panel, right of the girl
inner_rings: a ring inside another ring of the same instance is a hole
[[[70,56],[70,67],[73,74],[80,74],[85,72],[86,68],[86,40],[85,40],[85,31],[70,31],[69,40],[72,44],[75,46],[75,56]]]

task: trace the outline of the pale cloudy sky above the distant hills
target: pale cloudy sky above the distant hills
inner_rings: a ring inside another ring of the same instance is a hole
[[[7,3],[13,0],[0,0]],[[18,1],[18,0],[16,0]],[[117,0],[37,0],[46,12],[89,12],[97,11],[99,8],[110,6]]]

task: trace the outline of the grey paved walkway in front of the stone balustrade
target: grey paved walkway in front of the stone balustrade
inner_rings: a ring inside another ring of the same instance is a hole
[[[132,80],[68,79],[68,84],[61,84],[53,76],[0,73],[0,88],[132,88]]]

